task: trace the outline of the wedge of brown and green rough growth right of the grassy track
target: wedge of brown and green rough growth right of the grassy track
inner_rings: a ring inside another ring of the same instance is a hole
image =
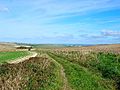
[[[79,51],[51,51],[73,64],[87,68],[100,75],[107,82],[113,81],[111,87],[120,90],[120,55],[106,52],[82,53]],[[106,84],[107,85],[107,84]]]

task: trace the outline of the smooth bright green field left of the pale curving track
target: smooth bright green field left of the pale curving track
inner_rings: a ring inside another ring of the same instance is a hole
[[[26,55],[29,55],[27,51],[0,52],[0,63],[15,60]]]

